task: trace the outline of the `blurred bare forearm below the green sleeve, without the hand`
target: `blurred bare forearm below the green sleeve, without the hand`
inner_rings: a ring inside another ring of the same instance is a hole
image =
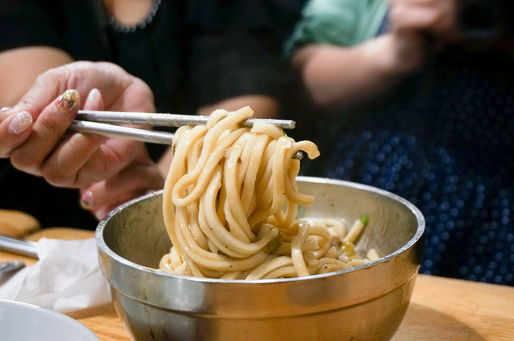
[[[385,34],[356,47],[306,45],[293,55],[292,63],[317,105],[354,103],[393,87],[421,64],[419,53],[398,60],[391,49],[394,39]],[[418,37],[412,39],[421,43]]]

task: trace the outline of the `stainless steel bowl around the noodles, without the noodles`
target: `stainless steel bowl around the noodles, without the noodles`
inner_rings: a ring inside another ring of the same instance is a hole
[[[299,177],[316,196],[299,217],[370,223],[357,253],[384,256],[356,268],[300,278],[219,280],[155,270],[169,252],[162,192],[128,202],[98,225],[102,271],[132,339],[380,340],[391,339],[409,305],[423,251],[425,219],[410,202],[352,182]]]

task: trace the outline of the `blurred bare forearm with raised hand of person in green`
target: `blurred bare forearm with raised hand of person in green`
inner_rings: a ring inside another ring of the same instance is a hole
[[[455,36],[455,0],[391,0],[390,32],[355,47],[306,45],[293,65],[315,103],[335,106],[372,98],[423,66],[430,34],[444,45]]]

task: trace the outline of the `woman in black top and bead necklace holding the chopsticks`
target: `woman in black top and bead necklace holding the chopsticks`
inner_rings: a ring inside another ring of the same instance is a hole
[[[70,134],[79,109],[278,116],[301,3],[0,0],[0,209],[94,229],[162,188],[171,153]]]

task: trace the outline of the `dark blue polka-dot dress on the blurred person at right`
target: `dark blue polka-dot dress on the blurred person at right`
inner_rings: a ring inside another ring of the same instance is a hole
[[[317,175],[398,194],[426,218],[420,272],[514,285],[514,74],[451,50],[340,127]],[[407,89],[407,90],[405,90]]]

